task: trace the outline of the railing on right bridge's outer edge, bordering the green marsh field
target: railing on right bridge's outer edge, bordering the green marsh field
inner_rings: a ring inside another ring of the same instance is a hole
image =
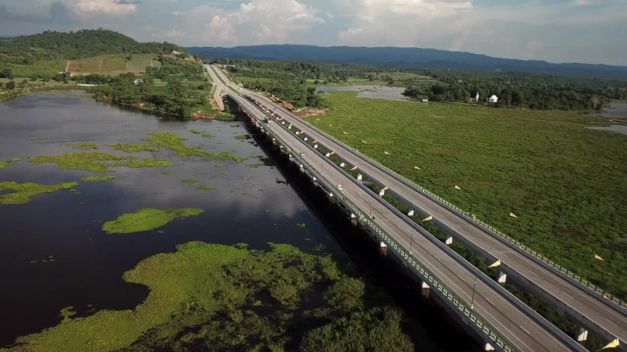
[[[386,167],[385,165],[383,165],[382,163],[377,162],[376,160],[372,160],[372,158],[368,157],[367,155],[365,155],[362,152],[359,152],[359,150],[357,150],[356,148],[352,148],[352,147],[349,147],[348,145],[345,145],[344,143],[340,142],[336,138],[331,137],[329,134],[327,134],[325,132],[322,132],[321,130],[319,130],[319,128],[314,127],[314,125],[312,125],[310,122],[307,122],[307,121],[304,121],[304,120],[300,120],[300,121],[302,121],[303,123],[306,123],[310,127],[314,128],[314,130],[316,132],[318,132],[318,133],[324,135],[325,137],[333,140],[335,143],[338,143],[339,145],[342,145],[342,147],[347,148],[350,151],[360,155],[362,158],[368,160],[369,162],[374,163],[375,165],[377,165],[377,167],[380,167],[380,168],[386,170],[387,172],[391,173],[391,175],[393,175],[394,177],[397,177],[398,179],[403,180],[407,184],[412,185],[416,189],[421,190],[423,192],[423,194],[426,194],[426,195],[432,197],[433,199],[439,200],[441,203],[446,205],[450,210],[455,210],[456,212],[458,212],[458,215],[461,215],[462,217],[465,217],[466,220],[468,220],[470,222],[473,222],[475,225],[480,226],[482,229],[488,230],[493,235],[496,235],[496,236],[504,239],[511,246],[515,246],[515,247],[518,247],[519,249],[522,249],[522,251],[526,252],[527,254],[529,254],[531,256],[534,256],[537,259],[540,259],[540,261],[544,262],[548,266],[551,266],[552,269],[555,269],[556,271],[561,272],[561,274],[566,274],[568,277],[570,277],[574,281],[577,281],[580,284],[582,284],[582,286],[587,287],[588,289],[591,289],[592,291],[596,292],[597,294],[601,294],[601,296],[603,296],[603,298],[608,299],[608,301],[611,301],[612,303],[616,304],[616,306],[618,306],[620,308],[623,308],[623,309],[627,309],[627,301],[625,301],[624,299],[621,299],[621,298],[618,298],[618,297],[614,296],[613,294],[608,292],[603,287],[593,284],[592,282],[590,282],[585,277],[577,275],[575,272],[566,269],[566,267],[563,267],[563,266],[557,264],[557,262],[552,261],[548,257],[540,254],[539,252],[534,251],[529,246],[525,246],[525,244],[522,244],[519,241],[515,240],[514,238],[512,238],[510,236],[507,236],[506,234],[503,234],[503,232],[501,232],[500,230],[497,230],[495,227],[492,227],[491,225],[488,225],[487,223],[483,222],[482,220],[477,219],[477,217],[474,214],[472,214],[471,212],[465,212],[460,207],[457,207],[456,205],[452,204],[451,202],[448,202],[447,200],[440,198],[438,195],[434,194],[433,192],[431,192],[431,191],[429,191],[427,189],[424,189],[423,187],[421,187],[420,185],[416,184],[412,180],[409,180],[407,177],[404,177],[400,173],[392,170],[389,167]]]

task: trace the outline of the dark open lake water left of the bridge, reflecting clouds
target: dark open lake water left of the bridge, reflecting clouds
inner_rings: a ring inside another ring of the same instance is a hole
[[[234,124],[240,127],[229,126]],[[203,138],[189,130],[216,137]],[[267,242],[281,242],[305,251],[322,244],[327,252],[350,257],[364,276],[372,276],[371,289],[391,291],[387,295],[390,301],[382,304],[398,304],[404,301],[403,294],[415,294],[411,282],[401,274],[379,272],[394,264],[372,261],[367,250],[360,251],[360,246],[350,246],[350,241],[342,239],[354,230],[320,210],[329,207],[316,204],[320,198],[312,195],[308,183],[298,180],[297,172],[286,173],[283,167],[248,167],[260,162],[256,158],[236,163],[172,157],[167,150],[127,154],[105,146],[116,142],[142,143],[140,138],[154,131],[177,133],[188,138],[187,145],[203,144],[204,150],[211,152],[268,157],[265,149],[256,146],[257,140],[233,138],[251,133],[243,122],[167,121],[68,95],[29,95],[0,104],[0,160],[24,158],[1,169],[0,180],[55,184],[93,175],[60,170],[55,164],[34,165],[26,160],[36,155],[83,152],[65,143],[92,142],[98,150],[88,152],[172,162],[169,168],[115,168],[115,172],[107,173],[115,175],[113,180],[79,182],[75,188],[81,194],[60,190],[36,195],[27,204],[0,205],[0,346],[13,342],[17,336],[57,324],[59,311],[66,306],[74,306],[78,316],[98,309],[134,308],[147,296],[147,288],[122,281],[122,273],[145,257],[174,251],[176,244],[196,240],[245,242],[253,249],[266,249]],[[217,163],[225,166],[216,168]],[[166,170],[176,175],[161,175]],[[198,179],[199,184],[182,184],[184,179]],[[214,190],[196,190],[200,184]],[[146,232],[102,231],[103,222],[144,207],[201,207],[205,212]],[[307,224],[307,228],[297,227],[298,223]],[[347,246],[345,252],[342,248]],[[373,263],[377,264],[372,266]],[[438,308],[413,303],[408,307],[409,311],[415,309],[416,315],[431,314],[431,318],[416,321],[411,327],[430,351],[470,350],[470,340],[463,334],[456,334],[452,340],[435,336],[440,330],[446,336],[451,333]]]

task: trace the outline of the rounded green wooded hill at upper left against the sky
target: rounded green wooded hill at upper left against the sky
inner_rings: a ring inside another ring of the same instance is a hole
[[[29,60],[79,59],[100,54],[162,54],[184,52],[170,43],[139,43],[132,38],[104,29],[76,32],[45,31],[30,36],[0,40],[0,54]]]

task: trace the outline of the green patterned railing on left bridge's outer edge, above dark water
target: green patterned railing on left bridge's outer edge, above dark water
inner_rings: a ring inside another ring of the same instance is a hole
[[[251,113],[251,115],[254,115],[254,114]],[[406,261],[409,262],[409,264],[414,266],[414,268],[417,269],[423,275],[423,277],[429,282],[430,287],[434,287],[435,289],[440,291],[442,296],[448,299],[448,301],[450,301],[450,303],[452,303],[453,306],[458,308],[460,312],[464,314],[468,319],[470,319],[470,321],[472,321],[473,324],[475,324],[484,334],[486,334],[488,338],[490,338],[498,346],[500,346],[500,348],[502,348],[503,350],[507,352],[517,351],[517,349],[513,347],[512,343],[508,342],[507,339],[500,336],[497,329],[493,328],[490,324],[486,323],[485,318],[480,316],[480,314],[477,314],[474,310],[471,310],[469,307],[467,307],[460,298],[458,298],[455,294],[453,294],[453,291],[451,289],[449,289],[445,284],[443,284],[440,281],[440,279],[438,279],[437,276],[433,275],[428,269],[421,266],[419,264],[418,259],[414,257],[413,254],[409,254],[407,251],[405,251],[404,247],[401,246],[401,244],[399,244],[396,240],[394,240],[392,236],[389,236],[385,230],[379,227],[379,225],[377,225],[375,222],[372,222],[370,219],[368,219],[366,217],[366,214],[364,214],[359,209],[359,207],[357,207],[357,205],[355,205],[350,199],[345,197],[344,194],[340,190],[338,190],[335,187],[335,185],[329,182],[321,173],[317,172],[317,170],[315,170],[315,168],[310,163],[298,157],[297,156],[298,153],[293,151],[293,149],[288,146],[288,143],[284,142],[282,138],[280,138],[277,134],[272,132],[270,129],[266,128],[265,130],[274,138],[276,138],[278,141],[282,142],[283,147],[286,150],[288,150],[290,153],[292,153],[292,155],[295,158],[297,158],[299,162],[303,163],[303,165],[307,165],[307,169],[310,172],[314,173],[314,175],[318,177],[318,179],[325,185],[325,187],[327,187],[327,189],[332,190],[334,192],[335,197],[342,200],[342,203],[347,205],[352,211],[356,212],[356,214],[359,215],[359,219],[362,222],[365,222],[380,237],[385,239],[396,251],[399,252],[399,254],[401,254],[401,256],[403,256],[403,258]]]

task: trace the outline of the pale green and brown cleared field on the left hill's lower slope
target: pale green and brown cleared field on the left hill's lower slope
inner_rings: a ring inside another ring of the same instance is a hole
[[[108,54],[70,60],[69,65],[68,60],[40,61],[38,65],[54,67],[58,71],[65,71],[67,68],[68,71],[75,74],[118,74],[124,71],[144,71],[146,66],[150,66],[150,63],[155,67],[161,66],[161,63],[155,60],[157,57],[155,54],[134,54],[130,61],[127,60],[127,57],[127,54]]]

